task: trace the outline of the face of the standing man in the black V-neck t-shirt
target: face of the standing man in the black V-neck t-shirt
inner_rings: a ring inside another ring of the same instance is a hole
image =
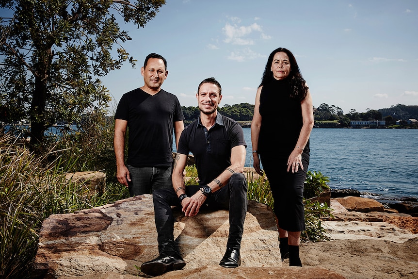
[[[165,69],[162,59],[150,58],[145,68],[141,68],[141,75],[144,77],[146,87],[158,90],[167,78],[168,71]]]

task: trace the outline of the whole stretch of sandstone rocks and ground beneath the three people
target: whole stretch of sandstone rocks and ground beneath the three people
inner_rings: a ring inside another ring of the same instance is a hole
[[[364,197],[331,198],[333,218],[322,220],[331,241],[300,246],[303,267],[281,263],[273,212],[249,202],[239,268],[218,265],[228,231],[227,211],[179,212],[175,237],[186,267],[161,279],[416,279],[418,217]],[[148,278],[135,266],[158,254],[150,195],[103,207],[49,216],[43,223],[33,278]]]

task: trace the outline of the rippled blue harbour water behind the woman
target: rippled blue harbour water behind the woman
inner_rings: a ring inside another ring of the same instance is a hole
[[[245,165],[253,166],[251,129],[243,130]],[[379,200],[418,198],[418,129],[313,129],[310,148],[308,169],[327,176],[332,189]]]

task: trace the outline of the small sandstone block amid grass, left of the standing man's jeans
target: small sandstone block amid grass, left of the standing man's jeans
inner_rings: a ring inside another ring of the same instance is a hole
[[[90,197],[95,193],[101,195],[106,188],[106,174],[100,171],[80,171],[65,174],[67,181],[73,181],[84,187],[83,193]]]

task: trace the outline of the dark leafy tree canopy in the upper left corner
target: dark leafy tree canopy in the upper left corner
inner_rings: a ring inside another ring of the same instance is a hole
[[[0,116],[30,119],[31,144],[58,121],[79,123],[111,99],[98,79],[133,57],[116,16],[144,27],[165,0],[3,0],[0,8]],[[113,56],[116,56],[115,58]]]

